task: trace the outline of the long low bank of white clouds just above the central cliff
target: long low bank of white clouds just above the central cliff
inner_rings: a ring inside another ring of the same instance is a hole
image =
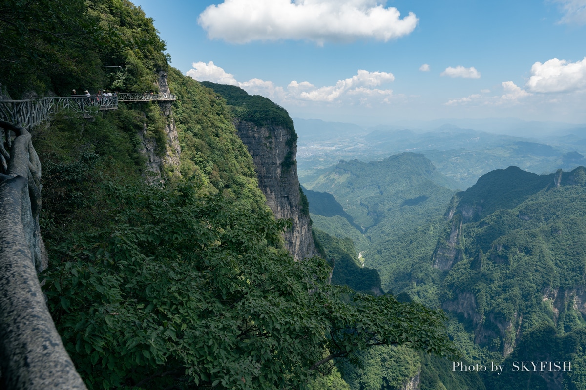
[[[308,81],[291,81],[287,89],[278,87],[272,81],[258,78],[239,82],[233,74],[227,73],[212,61],[209,63],[193,63],[193,69],[186,72],[197,81],[212,81],[220,84],[237,85],[249,94],[263,95],[279,102],[304,103],[323,102],[333,103],[345,99],[346,102],[370,104],[371,102],[389,103],[393,95],[391,89],[380,89],[380,85],[392,82],[395,77],[388,72],[369,72],[359,70],[357,74],[345,80],[339,80],[335,85],[316,87]]]

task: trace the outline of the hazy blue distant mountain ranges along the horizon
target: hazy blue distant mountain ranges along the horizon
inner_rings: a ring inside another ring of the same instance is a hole
[[[509,122],[527,131],[506,135],[506,129],[515,127]],[[342,124],[315,122],[311,131],[300,133],[299,178],[302,183],[311,182],[318,170],[329,169],[339,160],[381,160],[405,151],[423,153],[462,189],[471,187],[482,174],[510,165],[542,174],[586,164],[582,157],[574,156],[586,154],[586,128],[580,125],[510,120],[493,120],[484,125],[478,120],[468,125],[458,120],[430,123],[423,127],[415,126],[417,123],[381,125],[347,133],[331,131],[332,126]],[[349,124],[343,125],[350,128]],[[549,130],[541,134],[539,129]]]

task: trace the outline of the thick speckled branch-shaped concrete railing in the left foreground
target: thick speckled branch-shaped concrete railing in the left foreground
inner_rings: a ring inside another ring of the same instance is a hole
[[[0,127],[0,388],[86,389],[57,333],[37,275],[42,269],[39,158],[25,127],[2,121]]]

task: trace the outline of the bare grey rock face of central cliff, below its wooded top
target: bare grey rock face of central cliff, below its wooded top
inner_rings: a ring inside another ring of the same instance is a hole
[[[284,233],[285,247],[298,260],[314,256],[309,209],[302,205],[297,178],[297,142],[291,139],[294,134],[282,126],[258,127],[241,120],[234,125],[253,157],[258,187],[267,205],[275,218],[291,220],[291,227]]]

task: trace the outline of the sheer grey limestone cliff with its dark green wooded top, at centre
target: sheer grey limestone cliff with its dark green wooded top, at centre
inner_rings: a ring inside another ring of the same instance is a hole
[[[309,205],[297,178],[297,134],[287,111],[260,95],[234,85],[202,82],[233,108],[233,123],[253,157],[258,187],[275,218],[288,219],[285,247],[297,260],[317,254],[309,221]]]

